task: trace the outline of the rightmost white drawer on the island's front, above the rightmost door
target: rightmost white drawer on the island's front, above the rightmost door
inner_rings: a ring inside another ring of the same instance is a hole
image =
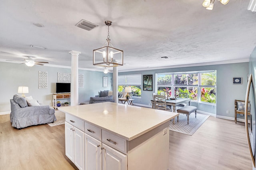
[[[125,139],[102,130],[102,142],[124,154],[127,154],[127,141]]]

